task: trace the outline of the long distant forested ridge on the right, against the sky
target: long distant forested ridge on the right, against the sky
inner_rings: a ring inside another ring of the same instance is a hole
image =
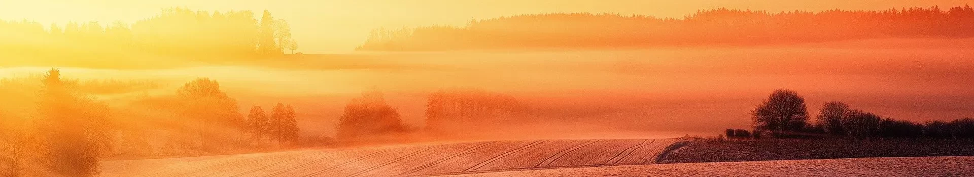
[[[585,48],[769,44],[867,38],[974,36],[968,5],[884,11],[780,12],[715,9],[684,18],[522,15],[471,20],[467,26],[376,29],[357,49],[426,51],[498,48]]]

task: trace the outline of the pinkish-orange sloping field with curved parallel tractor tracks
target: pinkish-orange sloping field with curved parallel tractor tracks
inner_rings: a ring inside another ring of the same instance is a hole
[[[102,161],[103,176],[434,176],[656,163],[670,139],[505,140]]]

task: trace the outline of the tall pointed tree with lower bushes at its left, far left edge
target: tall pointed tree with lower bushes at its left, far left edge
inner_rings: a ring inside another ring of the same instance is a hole
[[[115,129],[107,104],[78,92],[57,69],[37,95],[32,119],[0,117],[0,176],[97,175]]]

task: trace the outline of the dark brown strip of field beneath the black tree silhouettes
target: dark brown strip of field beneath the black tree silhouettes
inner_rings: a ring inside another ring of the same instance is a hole
[[[801,140],[762,139],[694,141],[660,163],[754,161],[779,159],[849,159],[974,156],[970,140]]]

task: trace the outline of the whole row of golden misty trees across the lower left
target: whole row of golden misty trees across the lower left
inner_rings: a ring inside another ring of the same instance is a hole
[[[146,104],[151,109],[130,106],[138,111],[110,108],[79,87],[111,87],[120,82],[84,84],[64,79],[58,69],[33,82],[40,84],[36,96],[17,94],[22,96],[19,99],[36,100],[32,105],[35,111],[23,115],[0,109],[2,177],[97,176],[98,159],[111,153],[130,149],[152,152],[147,131],[157,128],[169,132],[164,148],[182,156],[252,151],[264,148],[260,143],[266,141],[276,141],[278,148],[302,145],[293,107],[278,103],[266,116],[254,106],[244,118],[237,101],[223,92],[218,82],[206,78],[186,83],[171,96],[141,98],[146,102],[133,104]],[[5,79],[0,83],[11,87],[7,84],[17,82]],[[132,114],[146,112],[162,116]]]

